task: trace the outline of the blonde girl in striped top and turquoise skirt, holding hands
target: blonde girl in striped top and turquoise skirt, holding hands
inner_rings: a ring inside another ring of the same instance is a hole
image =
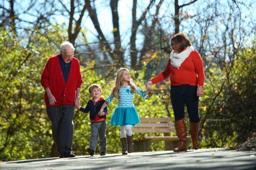
[[[121,126],[120,140],[123,155],[127,154],[127,146],[128,152],[133,152],[132,126],[140,123],[138,112],[133,105],[133,96],[136,93],[145,99],[149,91],[150,89],[142,91],[135,86],[129,70],[121,68],[116,74],[115,87],[112,89],[110,96],[106,98],[105,103],[101,106],[99,114],[103,114],[103,108],[107,104],[110,104],[114,97],[118,98],[118,105],[111,117],[110,124]]]

